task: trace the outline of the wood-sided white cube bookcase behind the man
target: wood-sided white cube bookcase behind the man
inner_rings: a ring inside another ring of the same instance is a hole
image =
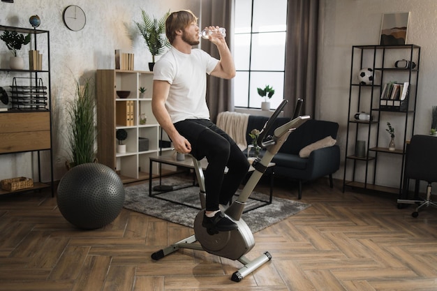
[[[116,170],[124,183],[148,179],[149,157],[160,154],[160,126],[151,112],[153,73],[97,70],[96,74],[98,162]],[[140,97],[140,87],[146,89],[144,97]],[[130,91],[130,94],[119,98],[117,91]],[[144,124],[140,117],[146,119]],[[131,121],[126,122],[127,119]],[[128,133],[124,140],[125,153],[117,153],[118,129]]]

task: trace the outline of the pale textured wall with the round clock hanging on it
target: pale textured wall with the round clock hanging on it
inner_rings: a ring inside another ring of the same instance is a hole
[[[82,31],[68,30],[62,21],[66,6],[80,6],[87,15],[87,24]],[[140,36],[133,42],[128,38],[126,26],[133,27],[139,21],[140,9],[149,15],[161,17],[168,10],[191,9],[200,15],[200,0],[15,0],[15,3],[0,2],[0,24],[12,27],[28,27],[29,17],[38,15],[38,29],[50,31],[50,60],[52,77],[52,109],[54,125],[54,179],[66,172],[67,153],[62,133],[66,119],[63,109],[74,94],[74,79],[82,75],[94,75],[96,69],[114,68],[114,50],[121,49],[135,54],[135,70],[149,70],[151,54]],[[135,29],[134,29],[135,31]],[[136,31],[135,31],[136,32]],[[20,51],[27,57],[28,47]],[[0,67],[8,68],[10,53],[0,41]],[[14,73],[0,74],[0,87],[12,84]],[[31,121],[29,121],[31,122]],[[0,141],[1,142],[1,141]],[[0,179],[26,176],[32,177],[30,154],[0,156]],[[47,160],[47,156],[44,156]],[[43,163],[43,181],[50,179],[47,161]],[[36,161],[34,161],[34,167]]]

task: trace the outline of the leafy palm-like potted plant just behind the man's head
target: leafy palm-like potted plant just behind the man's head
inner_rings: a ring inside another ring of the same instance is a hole
[[[149,63],[149,69],[153,70],[155,64],[155,56],[159,56],[165,52],[165,47],[170,47],[168,39],[165,37],[165,20],[170,11],[165,13],[159,20],[151,18],[145,10],[141,9],[142,19],[141,22],[135,22],[138,30],[145,40],[149,52],[151,53],[151,63]]]

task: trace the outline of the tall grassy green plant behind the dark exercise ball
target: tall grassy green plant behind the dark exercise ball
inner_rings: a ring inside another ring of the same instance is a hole
[[[94,124],[96,102],[92,80],[85,79],[83,84],[76,80],[75,86],[75,97],[68,107],[68,142],[70,163],[73,166],[95,161],[94,142],[97,136]]]

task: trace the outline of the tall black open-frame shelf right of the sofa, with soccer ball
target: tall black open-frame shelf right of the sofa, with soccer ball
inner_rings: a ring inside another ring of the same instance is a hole
[[[358,77],[364,68],[363,75],[371,77],[369,82]],[[345,186],[351,186],[401,193],[406,140],[414,134],[419,70],[417,45],[352,47],[343,191]],[[387,90],[393,84],[399,91]],[[369,114],[371,119],[355,118],[360,112]],[[387,122],[395,129],[394,149],[389,147]],[[357,154],[359,140],[365,144],[362,155]],[[385,180],[389,178],[399,186],[387,185]]]

